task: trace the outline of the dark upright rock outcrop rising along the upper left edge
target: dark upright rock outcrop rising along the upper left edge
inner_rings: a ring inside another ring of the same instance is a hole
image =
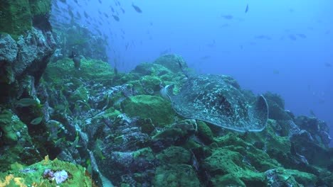
[[[36,98],[35,86],[56,45],[48,22],[50,13],[51,1],[1,1],[1,102]]]

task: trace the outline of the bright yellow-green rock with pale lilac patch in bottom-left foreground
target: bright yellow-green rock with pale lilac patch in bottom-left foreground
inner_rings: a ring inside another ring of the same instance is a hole
[[[12,164],[9,172],[0,173],[0,186],[91,187],[93,181],[83,166],[46,157],[30,166]]]

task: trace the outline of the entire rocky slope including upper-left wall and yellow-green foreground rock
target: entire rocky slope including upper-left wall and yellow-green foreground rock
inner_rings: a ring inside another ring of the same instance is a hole
[[[184,86],[179,55],[127,74],[87,48],[80,70],[67,57],[51,62],[56,48],[68,49],[58,47],[65,34],[48,27],[50,4],[1,2],[0,186],[332,186],[324,121],[285,111],[273,93],[263,94],[269,119],[261,132],[184,118],[160,93]]]

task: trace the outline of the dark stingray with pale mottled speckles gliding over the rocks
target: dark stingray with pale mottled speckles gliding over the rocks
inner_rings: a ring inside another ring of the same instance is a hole
[[[262,131],[268,121],[268,104],[260,95],[250,103],[244,94],[221,75],[189,77],[178,94],[174,85],[165,86],[162,96],[169,98],[174,111],[184,118],[203,120],[238,132]]]

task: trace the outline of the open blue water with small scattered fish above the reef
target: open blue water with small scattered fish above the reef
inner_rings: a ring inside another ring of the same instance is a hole
[[[256,94],[280,94],[286,110],[316,116],[333,129],[331,0],[68,4],[95,22],[83,17],[78,24],[108,37],[109,62],[120,71],[176,53],[196,73],[227,74]]]

